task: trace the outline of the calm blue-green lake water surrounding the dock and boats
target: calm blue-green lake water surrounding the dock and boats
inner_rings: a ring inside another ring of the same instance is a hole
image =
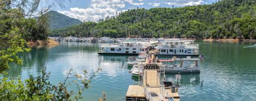
[[[206,43],[197,41],[204,61],[200,74],[181,74],[179,94],[181,100],[256,100],[256,48],[244,48],[254,43]],[[98,100],[102,91],[107,100],[125,100],[129,85],[137,83],[127,68],[129,56],[102,56],[98,54],[98,43],[61,42],[57,46],[33,47],[22,53],[23,65],[10,64],[7,77],[27,79],[38,76],[46,67],[51,72],[52,84],[58,85],[67,76],[93,74],[102,68],[85,90],[86,100]],[[175,74],[166,74],[175,80]],[[70,77],[72,83],[74,76]],[[76,86],[69,86],[76,89]]]

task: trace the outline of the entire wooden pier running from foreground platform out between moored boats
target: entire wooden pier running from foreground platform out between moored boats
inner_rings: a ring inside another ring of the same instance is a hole
[[[179,100],[180,96],[177,88],[161,84],[161,72],[159,72],[158,66],[160,64],[161,62],[157,63],[155,61],[154,54],[150,53],[148,55],[143,70],[142,85],[130,85],[125,96],[126,100]]]

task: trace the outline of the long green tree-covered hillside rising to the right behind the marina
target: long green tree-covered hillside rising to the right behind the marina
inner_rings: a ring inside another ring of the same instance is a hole
[[[256,39],[256,1],[222,0],[180,8],[137,8],[98,23],[52,30],[52,36]]]

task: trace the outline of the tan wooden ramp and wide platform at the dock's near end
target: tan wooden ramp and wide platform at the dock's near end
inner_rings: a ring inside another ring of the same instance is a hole
[[[143,76],[143,85],[130,85],[126,100],[179,100],[177,92],[172,93],[171,89],[161,87],[157,70],[145,70]]]

